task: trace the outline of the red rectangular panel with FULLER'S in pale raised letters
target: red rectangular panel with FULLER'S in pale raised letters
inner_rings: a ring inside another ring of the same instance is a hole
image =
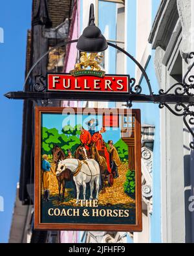
[[[47,74],[48,91],[129,93],[129,75],[72,76]]]

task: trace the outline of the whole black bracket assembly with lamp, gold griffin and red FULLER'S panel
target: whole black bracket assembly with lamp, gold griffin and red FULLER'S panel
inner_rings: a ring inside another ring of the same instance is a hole
[[[127,102],[125,104],[127,108],[131,108],[132,102],[157,103],[159,108],[166,107],[171,111],[171,113],[173,113],[173,115],[183,117],[184,124],[188,128],[190,134],[194,137],[192,128],[194,125],[194,76],[190,75],[190,72],[194,68],[194,62],[189,66],[182,83],[173,84],[166,92],[160,89],[158,94],[153,93],[151,83],[144,67],[142,67],[142,65],[133,56],[131,56],[129,52],[126,52],[114,43],[107,42],[100,29],[96,27],[94,24],[94,5],[91,5],[90,8],[89,26],[83,30],[83,34],[80,38],[78,40],[59,43],[45,52],[45,54],[43,54],[43,56],[41,56],[34,65],[32,65],[30,71],[28,71],[27,78],[25,79],[25,85],[27,84],[30,73],[34,67],[36,67],[36,65],[39,64],[39,62],[47,56],[49,52],[70,43],[77,43],[77,48],[81,51],[80,55],[82,57],[80,57],[80,62],[75,65],[75,69],[70,72],[71,76],[70,74],[48,74],[46,79],[46,74],[41,74],[39,75],[39,82],[34,84],[32,91],[11,91],[6,93],[5,97],[8,99],[25,100],[110,100],[114,102]],[[105,72],[101,71],[101,55],[98,54],[98,52],[105,51],[108,46],[114,47],[114,49],[124,53],[138,66],[142,72],[142,78],[145,78],[146,93],[142,93],[144,87],[140,84],[136,84],[135,78],[130,77],[129,75],[105,75]],[[89,54],[87,54],[87,52]],[[192,59],[193,57],[194,52],[188,54],[189,59]],[[89,67],[91,68],[90,70],[88,69]],[[50,79],[53,79],[54,76],[59,76],[59,78],[55,78],[59,79],[59,82],[55,82],[53,87],[52,82],[50,84]],[[115,80],[113,78],[115,78]],[[62,80],[64,81],[64,79],[66,79],[65,87],[67,88],[65,88],[63,86],[63,82],[61,82]],[[70,79],[69,87],[67,79]],[[45,84],[45,80],[47,80],[47,84]],[[106,82],[107,80],[109,80],[109,82]],[[123,82],[121,82],[121,80]],[[112,84],[110,84],[110,81],[112,81]],[[149,94],[147,94],[147,89]],[[63,93],[64,91],[68,93]],[[193,141],[189,146],[194,150]]]

